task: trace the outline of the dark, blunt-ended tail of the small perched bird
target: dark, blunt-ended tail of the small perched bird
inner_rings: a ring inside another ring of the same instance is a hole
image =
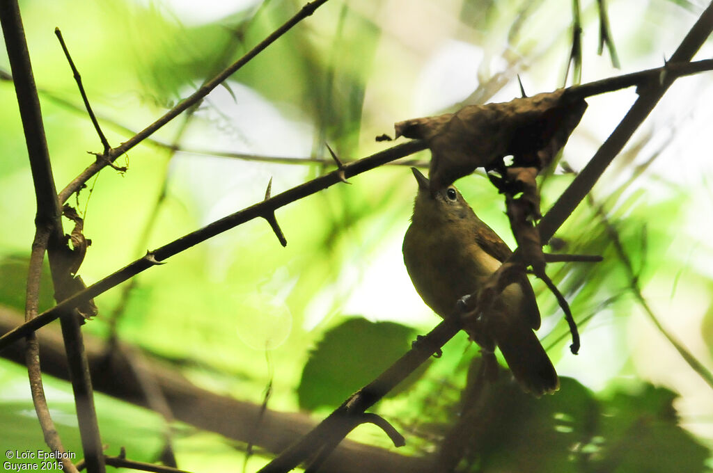
[[[496,323],[491,334],[525,391],[540,396],[560,388],[555,367],[531,328],[518,323]]]

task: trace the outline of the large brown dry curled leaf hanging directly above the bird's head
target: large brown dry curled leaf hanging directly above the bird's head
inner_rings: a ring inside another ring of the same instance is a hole
[[[587,103],[564,98],[565,89],[515,98],[510,102],[468,105],[456,113],[396,123],[396,137],[426,140],[431,148],[431,187],[438,189],[476,167],[513,166],[542,170],[565,145]]]

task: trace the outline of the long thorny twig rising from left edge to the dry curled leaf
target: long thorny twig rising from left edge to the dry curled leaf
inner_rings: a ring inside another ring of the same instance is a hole
[[[400,157],[408,156],[414,152],[425,149],[426,143],[419,140],[406,142],[402,145],[396,145],[387,150],[377,152],[369,157],[365,157],[364,159],[344,165],[344,175],[347,178],[353,177],[361,174],[362,172],[384,165],[386,162],[397,160]],[[10,343],[14,343],[15,341],[23,338],[28,333],[31,333],[32,331],[35,331],[55,320],[58,318],[61,311],[79,306],[81,303],[89,301],[91,298],[94,298],[98,296],[98,294],[108,291],[114,286],[123,283],[130,277],[139,274],[141,271],[145,271],[151,266],[160,264],[160,261],[168,259],[170,256],[174,256],[191,246],[215,237],[215,235],[237,227],[240,224],[249,222],[257,217],[262,217],[265,212],[275,212],[275,210],[280,207],[284,207],[287,204],[315,194],[322,189],[327,189],[327,187],[339,182],[342,181],[339,180],[337,171],[335,170],[329,172],[326,175],[304,182],[304,184],[292,187],[292,189],[288,189],[287,191],[282,192],[282,194],[277,194],[274,197],[270,197],[270,199],[263,200],[262,202],[258,202],[257,204],[242,209],[239,212],[223,217],[220,220],[212,222],[212,224],[208,224],[202,229],[196,230],[195,232],[191,232],[183,237],[180,237],[179,239],[171,241],[169,244],[165,244],[155,251],[150,251],[148,254],[143,256],[143,258],[133,261],[133,263],[130,263],[113,274],[106,276],[104,279],[101,279],[101,281],[97,281],[87,289],[74,294],[65,301],[58,303],[53,308],[44,311],[29,323],[25,323],[15,330],[5,333],[4,336],[0,337],[0,350]]]

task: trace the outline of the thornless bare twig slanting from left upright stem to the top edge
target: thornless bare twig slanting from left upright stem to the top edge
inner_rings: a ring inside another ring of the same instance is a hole
[[[213,78],[212,80],[205,83],[205,85],[202,85],[201,88],[196,90],[185,100],[182,100],[174,108],[168,110],[168,112],[166,112],[163,117],[159,118],[154,123],[151,123],[150,125],[148,125],[148,127],[144,128],[133,137],[130,137],[127,141],[121,143],[121,145],[119,145],[118,147],[112,148],[105,156],[106,159],[96,160],[96,162],[87,167],[86,170],[84,170],[80,175],[74,178],[74,180],[72,180],[72,182],[70,182],[67,187],[62,189],[62,191],[59,193],[60,202],[65,202],[66,199],[71,196],[71,194],[81,189],[81,187],[86,184],[86,182],[93,175],[101,171],[103,167],[108,164],[108,162],[114,162],[114,160],[116,160],[119,156],[123,155],[125,152],[148,138],[150,135],[153,134],[153,132],[163,127],[163,125],[165,125],[166,123],[170,122],[170,120],[173,120],[178,115],[180,115],[180,113],[183,113],[192,105],[195,105],[200,100],[205,98],[205,96],[208,95],[211,90],[213,90],[224,80],[232,76],[232,74],[235,73],[238,69],[242,68],[242,66],[245,66],[245,64],[247,64],[252,58],[255,58],[257,54],[265,50],[267,46],[270,46],[270,44],[275,42],[277,38],[282,36],[284,33],[287,33],[287,31],[289,31],[292,26],[298,24],[300,21],[307,18],[307,16],[312,15],[315,10],[317,10],[325,3],[327,3],[327,0],[314,0],[305,4],[302,9],[297,12],[297,14],[294,14],[292,18],[290,18],[282,26],[277,28],[273,33],[270,34],[270,36],[267,36],[267,38],[257,44],[255,48],[252,48],[250,51],[248,51],[245,56],[242,56],[242,58],[238,59],[235,63],[232,63],[231,66],[225,68],[224,71],[215,76],[215,78]]]

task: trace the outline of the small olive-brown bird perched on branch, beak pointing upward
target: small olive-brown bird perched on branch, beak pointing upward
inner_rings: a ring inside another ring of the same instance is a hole
[[[512,251],[456,187],[431,192],[429,180],[411,170],[419,193],[404,237],[404,263],[426,305],[442,318],[451,317],[457,301],[476,293]],[[558,390],[555,368],[533,332],[540,328],[540,311],[527,276],[507,286],[482,319],[469,323],[466,332],[486,350],[498,345],[525,391],[539,396]]]

